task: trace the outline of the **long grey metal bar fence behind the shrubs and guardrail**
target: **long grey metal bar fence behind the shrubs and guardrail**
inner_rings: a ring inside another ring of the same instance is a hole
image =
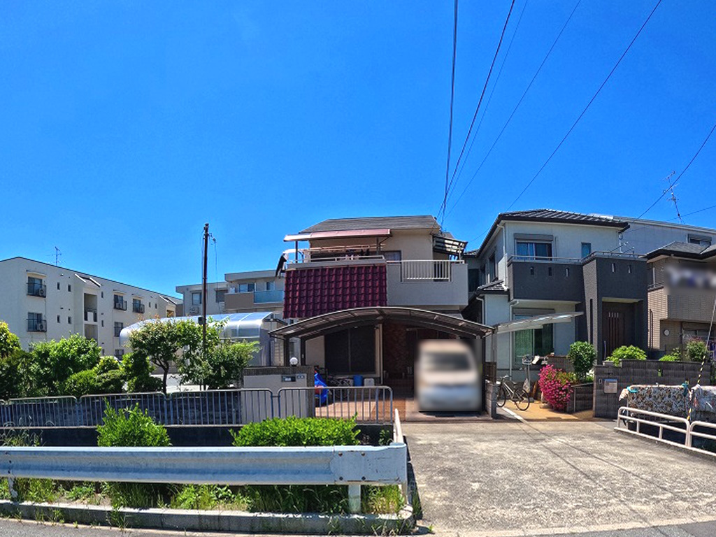
[[[37,397],[0,401],[0,420],[2,427],[95,427],[107,407],[135,405],[162,425],[243,425],[289,415],[390,423],[393,396],[390,387],[365,386]]]

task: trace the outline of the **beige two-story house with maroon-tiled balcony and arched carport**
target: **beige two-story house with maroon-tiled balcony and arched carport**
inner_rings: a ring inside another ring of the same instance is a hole
[[[460,314],[465,242],[432,216],[326,220],[284,241],[284,319],[294,322],[274,336],[299,338],[302,364],[412,390],[422,339],[489,331]]]

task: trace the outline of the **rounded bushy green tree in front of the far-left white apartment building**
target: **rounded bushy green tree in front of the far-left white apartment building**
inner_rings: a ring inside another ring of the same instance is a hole
[[[25,370],[28,395],[62,394],[64,382],[74,373],[95,367],[101,355],[94,339],[79,334],[33,344]]]

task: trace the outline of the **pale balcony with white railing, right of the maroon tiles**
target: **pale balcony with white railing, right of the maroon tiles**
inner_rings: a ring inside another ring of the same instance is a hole
[[[456,308],[468,304],[462,260],[387,261],[387,305]]]

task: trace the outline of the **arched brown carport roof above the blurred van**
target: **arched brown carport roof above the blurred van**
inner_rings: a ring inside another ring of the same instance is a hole
[[[310,339],[347,326],[379,324],[393,321],[424,328],[432,328],[467,337],[482,337],[493,331],[485,324],[468,321],[461,317],[428,311],[427,309],[401,308],[397,306],[376,306],[365,308],[342,309],[327,314],[316,315],[308,319],[269,332],[271,337],[301,337]]]

